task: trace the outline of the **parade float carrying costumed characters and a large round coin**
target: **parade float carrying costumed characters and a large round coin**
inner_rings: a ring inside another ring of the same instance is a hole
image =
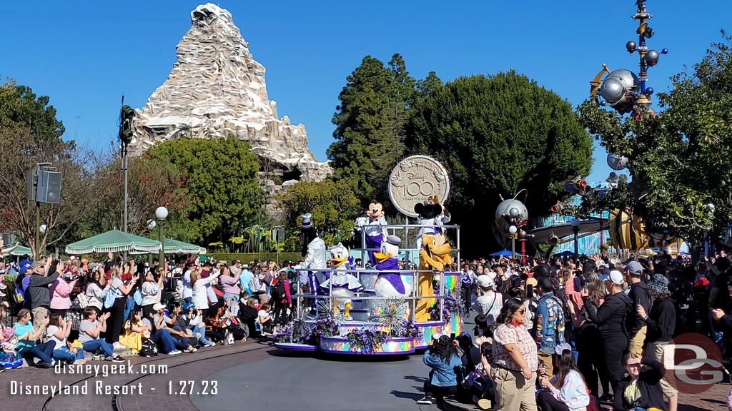
[[[403,159],[389,177],[389,197],[405,224],[387,224],[384,206],[372,200],[355,224],[361,247],[336,244],[327,259],[310,216],[303,216],[301,292],[292,295],[292,320],[275,333],[275,347],[405,355],[425,349],[435,333],[463,331],[460,273],[452,265],[460,258],[460,227],[447,224],[448,195],[449,175],[439,162]],[[354,258],[369,268],[356,267]]]

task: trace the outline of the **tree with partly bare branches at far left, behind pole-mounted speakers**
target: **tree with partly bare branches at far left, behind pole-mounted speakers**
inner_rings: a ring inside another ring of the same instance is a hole
[[[33,250],[62,252],[112,184],[103,173],[103,160],[61,140],[63,125],[48,102],[12,80],[0,86],[0,230],[15,233]],[[40,224],[46,226],[40,244],[35,241],[36,203],[26,193],[26,171],[38,162],[51,163],[63,176],[60,202],[40,204]]]

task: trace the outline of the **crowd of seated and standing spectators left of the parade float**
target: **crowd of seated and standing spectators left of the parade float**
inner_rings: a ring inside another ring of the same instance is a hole
[[[191,257],[164,268],[112,253],[100,263],[0,263],[0,272],[0,372],[271,336],[289,321],[295,277],[290,263]]]

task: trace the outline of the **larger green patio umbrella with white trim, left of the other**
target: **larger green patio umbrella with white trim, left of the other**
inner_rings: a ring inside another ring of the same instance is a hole
[[[110,230],[66,246],[68,254],[89,254],[91,252],[157,252],[160,241],[139,235]]]

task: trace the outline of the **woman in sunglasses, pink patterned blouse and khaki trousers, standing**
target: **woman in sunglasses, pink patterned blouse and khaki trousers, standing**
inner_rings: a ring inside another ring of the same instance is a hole
[[[537,343],[523,324],[525,315],[523,302],[511,298],[496,319],[490,367],[490,377],[496,384],[496,411],[537,410],[534,395],[539,368]]]

